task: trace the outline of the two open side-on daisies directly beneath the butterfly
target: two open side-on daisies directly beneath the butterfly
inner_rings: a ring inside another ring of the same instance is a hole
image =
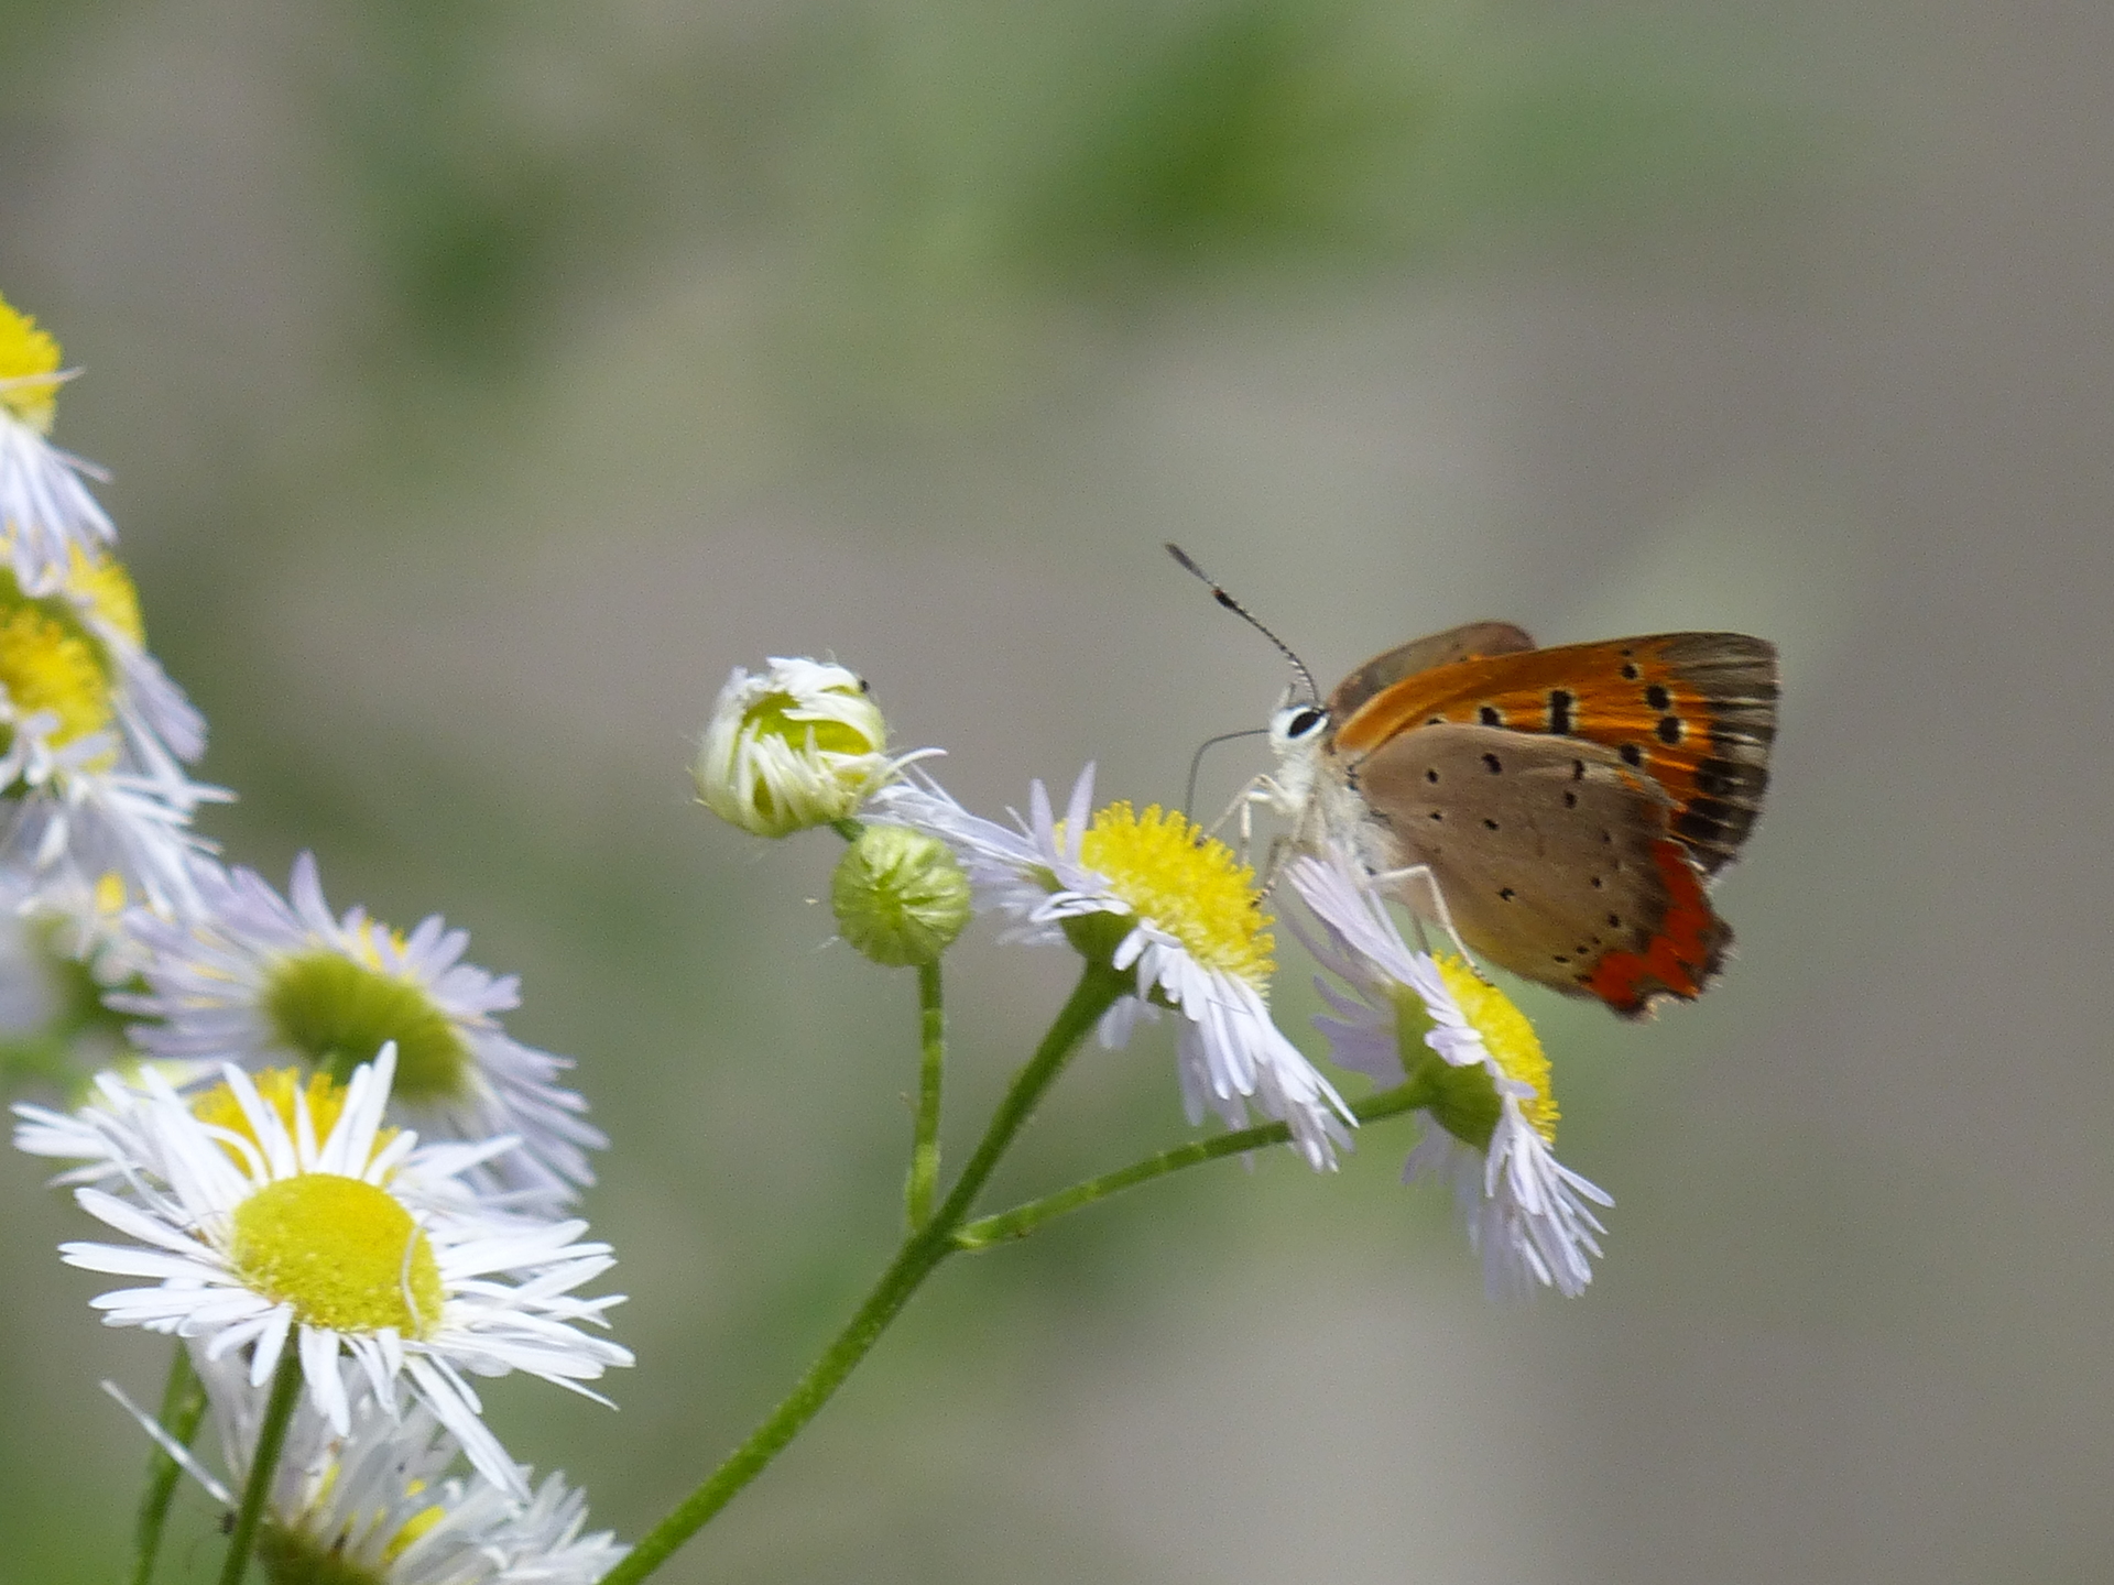
[[[1006,938],[1063,940],[1135,976],[1135,993],[1101,1019],[1104,1046],[1177,1014],[1190,1124],[1209,1107],[1241,1129],[1254,1110],[1283,1122],[1311,1167],[1334,1167],[1357,1118],[1271,1019],[1271,917],[1254,873],[1180,814],[1093,812],[1091,765],[1061,820],[1040,782],[1027,807],[1010,826],[983,820],[930,778],[882,788],[869,805],[953,845]],[[1421,1097],[1425,1139],[1404,1177],[1452,1183],[1492,1295],[1581,1293],[1605,1232],[1590,1207],[1611,1200],[1554,1156],[1556,1101],[1533,1025],[1463,957],[1412,951],[1351,852],[1300,856],[1285,879],[1311,915],[1294,930],[1332,976],[1317,987],[1334,1017],[1315,1021],[1330,1055]]]

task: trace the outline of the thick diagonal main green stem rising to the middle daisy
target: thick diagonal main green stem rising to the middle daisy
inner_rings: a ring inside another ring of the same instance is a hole
[[[932,1213],[932,1219],[903,1241],[896,1257],[888,1262],[888,1270],[882,1272],[873,1291],[867,1293],[867,1300],[846,1323],[843,1331],[808,1367],[808,1374],[801,1376],[786,1399],[765,1416],[763,1424],[748,1435],[748,1441],[727,1454],[725,1462],[706,1475],[698,1490],[676,1503],[668,1517],[647,1530],[630,1555],[602,1577],[602,1585],[636,1585],[636,1581],[668,1562],[676,1547],[689,1541],[748,1481],[761,1475],[765,1465],[829,1403],[837,1386],[843,1384],[843,1378],[852,1374],[888,1329],[888,1323],[903,1312],[903,1306],[917,1291],[920,1283],[956,1251],[953,1232],[962,1226],[968,1207],[975,1205],[977,1194],[989,1181],[1000,1156],[1006,1154],[1006,1148],[1034,1114],[1044,1090],[1063,1071],[1072,1048],[1127,989],[1131,989],[1127,976],[1114,974],[1104,966],[1087,966],[1051,1031],[1036,1046],[1036,1055],[1015,1076],[1004,1101],[998,1103],[998,1112],[991,1114],[991,1124],[983,1131],[983,1139],[968,1158],[968,1167],[962,1169],[962,1177],[956,1179],[953,1190],[949,1190],[939,1211]],[[235,1583],[224,1581],[222,1585]]]

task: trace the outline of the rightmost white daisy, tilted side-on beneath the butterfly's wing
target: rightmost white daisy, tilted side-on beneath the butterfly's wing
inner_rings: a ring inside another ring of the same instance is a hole
[[[1594,1234],[1607,1232],[1592,1207],[1613,1200],[1556,1160],[1550,1061],[1526,1014],[1467,962],[1410,951],[1345,858],[1300,856],[1285,879],[1323,926],[1300,938],[1355,991],[1315,981],[1336,1012],[1315,1019],[1336,1061],[1383,1088],[1429,1095],[1404,1179],[1452,1183],[1492,1295],[1581,1293],[1588,1255],[1600,1253]]]

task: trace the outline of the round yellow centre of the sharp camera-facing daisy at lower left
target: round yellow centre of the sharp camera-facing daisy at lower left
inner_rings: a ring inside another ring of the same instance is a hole
[[[387,1190],[336,1173],[266,1183],[239,1207],[228,1260],[252,1291],[292,1304],[332,1331],[440,1325],[440,1264],[425,1232]]]

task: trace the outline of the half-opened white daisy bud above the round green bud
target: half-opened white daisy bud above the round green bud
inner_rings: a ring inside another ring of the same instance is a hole
[[[721,820],[757,837],[789,837],[848,820],[896,771],[932,752],[888,757],[888,723],[854,672],[774,655],[755,676],[734,668],[691,778]]]

